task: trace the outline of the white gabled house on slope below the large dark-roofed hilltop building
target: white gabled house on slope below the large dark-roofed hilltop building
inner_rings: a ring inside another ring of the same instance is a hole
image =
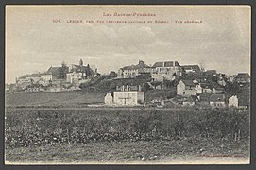
[[[177,85],[178,95],[196,95],[196,85],[192,80],[180,80]]]

